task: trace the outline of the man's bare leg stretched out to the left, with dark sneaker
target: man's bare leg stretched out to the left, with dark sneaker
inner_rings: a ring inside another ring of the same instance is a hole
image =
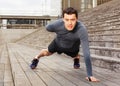
[[[31,69],[35,69],[37,67],[38,62],[39,62],[39,58],[44,57],[44,56],[49,56],[51,54],[52,53],[50,53],[48,51],[48,49],[42,49],[40,51],[40,53],[37,56],[35,56],[34,59],[32,60],[32,64],[30,65]]]

